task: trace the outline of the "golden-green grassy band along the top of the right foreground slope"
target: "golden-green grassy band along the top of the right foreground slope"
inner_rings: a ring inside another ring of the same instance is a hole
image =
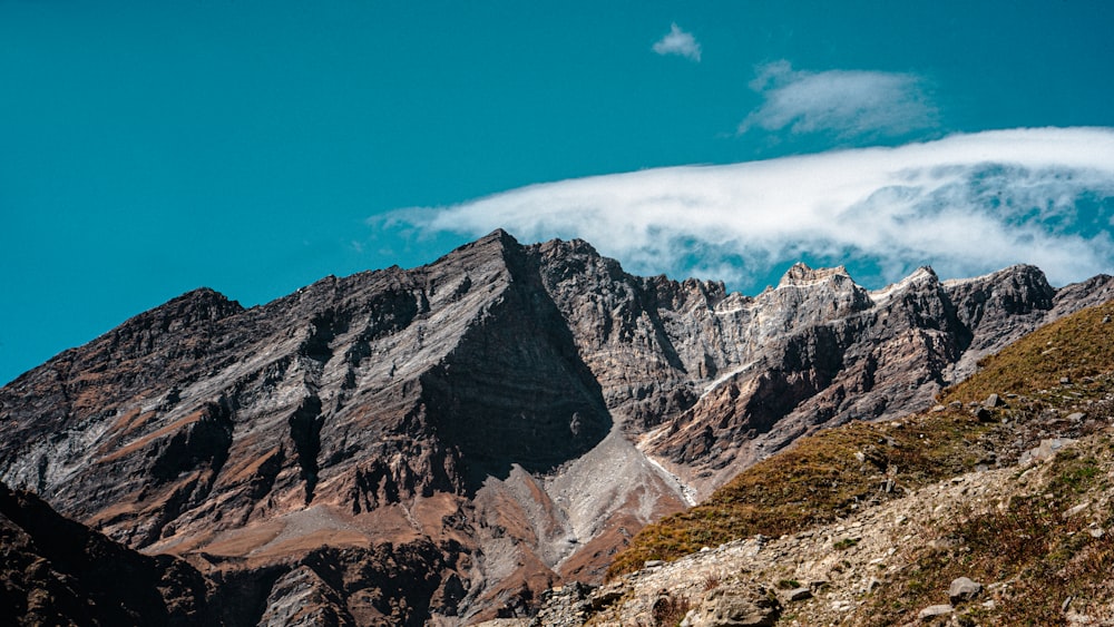
[[[1112,316],[1114,303],[1106,303],[1023,337],[980,362],[970,380],[946,390],[942,410],[802,438],[705,502],[644,528],[616,556],[609,576],[705,546],[800,531],[979,464],[1012,463],[1053,432],[1097,429],[1108,418],[1106,399],[1114,392]],[[991,393],[1006,405],[980,421],[971,403]],[[1089,412],[1089,422],[1068,424],[1066,414],[1079,409]]]

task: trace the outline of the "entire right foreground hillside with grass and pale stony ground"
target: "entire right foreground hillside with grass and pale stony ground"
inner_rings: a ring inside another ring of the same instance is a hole
[[[798,440],[644,528],[605,586],[505,626],[1110,625],[1112,320],[1046,325],[928,411]]]

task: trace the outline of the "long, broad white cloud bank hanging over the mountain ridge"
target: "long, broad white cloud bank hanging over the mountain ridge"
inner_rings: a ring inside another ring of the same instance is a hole
[[[534,185],[411,208],[384,227],[579,237],[638,274],[761,288],[800,259],[881,286],[920,265],[966,277],[1015,263],[1054,284],[1114,268],[1114,129],[957,135],[725,166]]]

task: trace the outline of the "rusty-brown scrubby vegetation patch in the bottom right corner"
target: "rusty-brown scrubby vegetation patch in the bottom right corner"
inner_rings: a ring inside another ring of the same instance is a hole
[[[960,516],[942,529],[947,548],[918,547],[909,567],[870,599],[869,625],[893,625],[942,602],[956,577],[997,582],[961,619],[975,625],[1056,625],[1071,606],[1092,618],[1108,613],[1114,594],[1114,512],[1065,516],[1081,499],[1112,489],[1114,441],[1104,435],[1088,450],[1056,455],[1051,480],[1036,494],[1014,497],[1008,507]],[[1102,508],[1100,508],[1102,509]],[[1097,537],[1096,537],[1097,536]],[[987,602],[987,601],[990,602]]]

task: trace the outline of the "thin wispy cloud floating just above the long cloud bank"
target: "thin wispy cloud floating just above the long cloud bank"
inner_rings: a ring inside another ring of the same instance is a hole
[[[936,125],[937,110],[907,74],[862,70],[798,71],[789,61],[759,68],[750,84],[765,101],[739,125],[805,134],[831,131],[841,137],[900,136]]]

